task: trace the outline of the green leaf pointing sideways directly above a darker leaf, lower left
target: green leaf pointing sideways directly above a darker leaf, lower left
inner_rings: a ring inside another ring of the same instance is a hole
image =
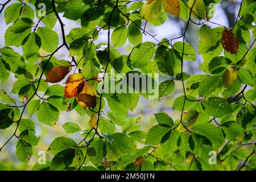
[[[53,140],[47,151],[56,155],[60,151],[73,148],[73,146],[77,146],[73,139],[67,137],[58,137]]]

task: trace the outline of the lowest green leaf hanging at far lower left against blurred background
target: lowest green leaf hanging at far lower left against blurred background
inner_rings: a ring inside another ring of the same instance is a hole
[[[21,162],[27,162],[32,156],[31,144],[19,139],[16,144],[16,156]]]

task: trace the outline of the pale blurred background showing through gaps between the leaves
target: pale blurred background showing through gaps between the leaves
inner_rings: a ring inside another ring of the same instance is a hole
[[[0,3],[5,3],[6,0],[0,0]],[[11,1],[10,3],[15,3],[16,1]],[[9,3],[9,5],[10,5]],[[211,19],[212,22],[217,22],[219,24],[222,24],[226,27],[232,27],[234,21],[236,20],[238,9],[240,7],[240,0],[223,0],[221,3],[219,3],[216,7],[216,13],[214,14],[214,17]],[[32,6],[31,6],[32,7]],[[6,7],[5,7],[6,9]],[[67,18],[63,17],[63,14],[60,14],[61,19],[63,20],[65,24],[65,34],[67,35],[69,31],[72,28],[75,27],[81,27],[79,22],[75,22],[72,20],[69,20]],[[177,36],[180,36],[183,34],[184,27],[186,22],[184,20],[177,18],[174,15],[168,15],[168,20],[160,26],[154,27],[150,24],[147,24],[146,30],[150,32],[153,35],[156,35],[155,38],[158,40],[161,40],[163,38],[171,39],[175,38]],[[38,19],[34,19],[34,22],[38,22]],[[210,27],[214,28],[217,25],[212,23],[207,23]],[[44,26],[44,24],[41,22],[40,26]],[[142,27],[144,24],[142,24]],[[197,50],[197,44],[199,42],[199,28],[200,26],[197,26],[193,23],[189,24],[186,41],[189,42],[196,50]],[[0,15],[0,47],[5,47],[5,31],[7,29],[5,18],[4,18],[4,10]],[[60,31],[60,24],[57,22],[55,27],[53,28],[54,31],[56,31],[59,34],[59,37],[61,38],[61,31]],[[107,43],[108,41],[107,31],[101,31],[100,35],[95,42],[97,43]],[[60,44],[61,44],[60,39]],[[150,41],[150,42],[156,42],[154,39],[152,39],[150,36],[143,35],[143,42]],[[176,41],[182,41],[181,39],[177,39]],[[125,46],[122,48],[118,48],[118,51],[120,51],[123,54],[128,54],[131,51],[131,44],[127,41]],[[12,46],[11,48],[14,49],[14,51],[19,52],[22,54],[22,48],[16,48]],[[197,51],[196,51],[197,52]],[[64,60],[71,60],[71,57],[68,57],[68,51],[65,48],[61,48],[60,51],[58,51],[55,56],[58,59],[64,59]],[[185,61],[184,63],[184,71],[189,73],[190,75],[193,74],[200,74],[200,63],[202,59],[200,56],[197,55],[197,59],[195,62],[191,61]],[[164,79],[164,78],[163,78]],[[0,81],[0,89],[5,90],[6,93],[8,93],[11,97],[16,98],[18,101],[18,105],[22,105],[22,103],[19,102],[18,96],[15,94],[10,94],[11,89],[13,87],[14,82],[16,81],[16,78],[13,74],[10,75],[9,79],[3,83]],[[63,84],[64,86],[64,84]],[[166,112],[168,113],[174,121],[180,117],[180,112],[174,112],[172,110],[172,103],[174,102],[175,98],[177,96],[180,96],[183,94],[182,85],[181,82],[175,81],[175,90],[174,92],[167,97],[164,97],[160,99],[159,101],[153,101],[153,100],[147,100],[143,97],[140,97],[139,103],[137,107],[134,109],[133,112],[130,112],[130,116],[133,118],[139,118],[141,117],[141,130],[148,131],[150,127],[155,125],[155,118],[154,113],[159,112]],[[84,116],[80,117],[79,114],[76,113],[76,111],[70,111],[70,112],[62,112],[60,113],[59,121],[56,123],[55,127],[49,127],[47,125],[44,125],[43,123],[39,122],[36,116],[30,117],[28,115],[27,111],[23,115],[23,118],[30,118],[33,121],[35,121],[36,125],[36,135],[40,136],[39,144],[36,147],[33,147],[33,155],[30,160],[30,163],[22,163],[19,162],[19,160],[16,158],[15,155],[15,145],[16,145],[16,138],[14,137],[11,139],[11,141],[3,148],[3,150],[0,152],[0,169],[2,166],[2,169],[10,169],[10,170],[30,170],[34,164],[36,163],[38,159],[38,152],[39,151],[46,151],[49,144],[51,144],[52,140],[56,137],[60,136],[67,136],[74,139],[76,142],[80,142],[82,139],[80,133],[75,134],[67,134],[65,133],[64,129],[61,127],[65,122],[76,122],[82,130],[88,129],[88,122],[89,118]],[[0,116],[1,119],[1,116]],[[0,146],[2,146],[6,140],[14,133],[16,125],[12,125],[9,127],[9,129],[6,130],[0,130]],[[53,156],[50,154],[47,154],[47,159],[51,159]]]

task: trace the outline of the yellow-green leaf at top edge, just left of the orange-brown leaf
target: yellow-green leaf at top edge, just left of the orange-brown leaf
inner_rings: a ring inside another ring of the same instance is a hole
[[[142,14],[147,21],[158,18],[161,13],[162,0],[150,1],[142,6]]]

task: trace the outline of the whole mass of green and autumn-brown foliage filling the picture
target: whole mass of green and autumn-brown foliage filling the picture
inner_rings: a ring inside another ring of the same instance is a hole
[[[11,93],[18,97],[4,90],[0,94],[0,130],[12,133],[1,141],[0,152],[16,139],[16,156],[27,163],[42,138],[37,137],[35,121],[24,113],[35,114],[42,125],[53,127],[61,112],[75,110],[88,115],[88,127],[81,129],[76,121],[62,127],[68,134],[82,131],[81,140],[52,139],[47,150],[52,160],[32,169],[255,170],[256,2],[241,2],[233,27],[211,20],[218,3],[220,0],[3,3],[0,13],[4,10],[9,27],[5,47],[0,48],[0,80],[4,83],[14,75]],[[168,17],[185,23],[180,36],[158,40],[147,31],[148,24],[157,28]],[[79,22],[81,27],[68,32],[63,18]],[[60,26],[60,35],[52,29],[55,24]],[[199,27],[196,49],[186,41],[189,24]],[[96,43],[101,31],[108,37]],[[145,36],[152,42],[142,41]],[[127,44],[133,47],[123,55],[119,48]],[[15,51],[19,47],[22,53]],[[68,51],[67,60],[55,57],[60,49]],[[188,61],[200,61],[197,55],[203,58],[201,74],[185,73]],[[150,98],[150,94],[101,93],[98,85],[104,88],[108,84],[104,78],[111,69],[123,75],[113,80],[116,84],[135,72],[167,77],[158,85],[156,100],[182,85],[182,95],[170,105],[179,119],[174,121],[170,113],[155,113],[156,125],[141,130],[140,119],[129,113],[139,98]],[[14,131],[9,130],[12,125]],[[217,152],[214,165],[209,164],[210,151]]]

